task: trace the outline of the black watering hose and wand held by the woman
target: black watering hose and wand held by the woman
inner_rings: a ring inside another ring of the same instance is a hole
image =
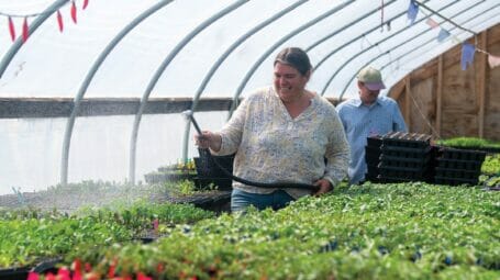
[[[200,126],[198,125],[197,121],[195,120],[193,113],[191,110],[184,111],[181,113],[188,121],[195,125],[196,131],[198,134],[201,136],[201,130]],[[213,157],[210,152],[207,153],[209,158],[212,158],[213,163],[221,169],[221,171],[231,178],[234,181],[247,184],[247,186],[254,186],[254,187],[259,187],[259,188],[271,188],[271,189],[307,189],[307,190],[313,190],[318,191],[319,187],[309,184],[309,183],[300,183],[300,182],[288,182],[288,181],[279,181],[279,182],[255,182],[255,181],[249,181],[240,177],[234,176],[230,171],[227,171],[224,167],[222,167],[219,161],[216,160],[216,157]]]

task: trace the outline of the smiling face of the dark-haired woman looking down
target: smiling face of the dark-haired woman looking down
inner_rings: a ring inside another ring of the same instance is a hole
[[[300,98],[311,76],[310,71],[307,75],[301,75],[292,66],[281,63],[276,63],[274,75],[275,89],[284,102]]]

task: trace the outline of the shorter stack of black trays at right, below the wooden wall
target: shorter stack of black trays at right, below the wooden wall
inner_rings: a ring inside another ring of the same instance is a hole
[[[441,147],[437,152],[435,183],[478,184],[486,152]]]

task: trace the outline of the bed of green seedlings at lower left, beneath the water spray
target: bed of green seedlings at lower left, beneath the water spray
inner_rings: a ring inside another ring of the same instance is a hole
[[[214,214],[188,204],[137,202],[114,209],[81,209],[71,216],[60,212],[19,210],[2,212],[0,267],[33,265],[41,259],[78,257],[91,248],[130,243],[153,228],[193,223]]]

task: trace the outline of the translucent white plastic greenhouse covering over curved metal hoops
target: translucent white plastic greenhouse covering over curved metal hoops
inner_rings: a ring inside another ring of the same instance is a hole
[[[368,64],[381,69],[387,94],[408,72],[497,24],[499,5],[1,0],[0,99],[67,98],[75,110],[92,98],[244,98],[271,82],[273,59],[286,46],[308,52],[314,67],[308,88],[327,98],[355,96],[355,75]],[[193,111],[204,130],[220,128],[229,116]],[[0,194],[88,179],[140,181],[198,153],[179,112],[71,115],[0,119]]]

